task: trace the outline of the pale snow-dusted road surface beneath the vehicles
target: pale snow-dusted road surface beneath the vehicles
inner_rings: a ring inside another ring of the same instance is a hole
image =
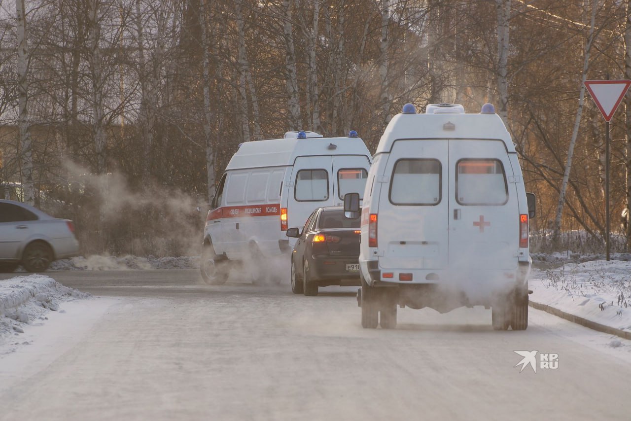
[[[55,338],[0,359],[0,420],[631,418],[631,342],[533,309],[526,331],[495,332],[477,308],[399,309],[398,329],[370,330],[356,288],[48,275],[103,298],[66,305],[47,321]],[[558,353],[558,369],[520,373],[515,350]]]

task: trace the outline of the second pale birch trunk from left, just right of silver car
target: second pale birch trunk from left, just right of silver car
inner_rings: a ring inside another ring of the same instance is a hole
[[[97,153],[97,174],[103,174],[105,165],[105,127],[103,118],[103,62],[100,49],[100,20],[98,11],[100,0],[88,0],[88,64],[90,66],[90,79],[92,83],[92,135]]]

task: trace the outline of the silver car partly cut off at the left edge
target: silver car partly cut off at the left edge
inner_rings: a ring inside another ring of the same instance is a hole
[[[0,272],[13,272],[19,264],[28,272],[43,272],[52,261],[78,254],[71,220],[0,199]]]

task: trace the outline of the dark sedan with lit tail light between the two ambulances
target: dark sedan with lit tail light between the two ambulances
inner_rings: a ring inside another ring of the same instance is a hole
[[[302,232],[289,228],[297,238],[292,251],[292,291],[317,295],[318,287],[360,285],[360,219],[344,217],[344,208],[317,208]]]

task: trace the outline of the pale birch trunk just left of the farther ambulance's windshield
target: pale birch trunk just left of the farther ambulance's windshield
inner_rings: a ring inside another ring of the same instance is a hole
[[[215,192],[215,151],[213,150],[212,121],[210,100],[210,43],[208,36],[208,24],[206,23],[207,0],[199,0],[199,25],[201,26],[201,50],[202,50],[202,72],[204,83],[204,110],[202,112],[204,126],[204,140],[206,143],[206,182],[208,182],[208,199]]]

